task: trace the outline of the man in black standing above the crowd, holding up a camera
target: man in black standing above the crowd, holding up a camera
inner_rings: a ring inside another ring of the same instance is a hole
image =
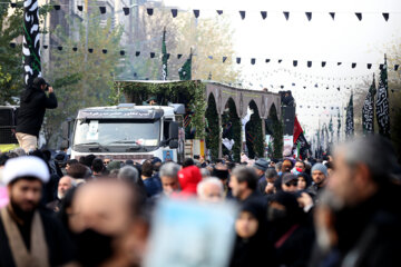
[[[49,96],[45,91],[49,91]],[[21,95],[17,117],[17,140],[27,152],[35,150],[46,109],[57,108],[57,98],[52,87],[41,77],[35,78],[32,86]]]

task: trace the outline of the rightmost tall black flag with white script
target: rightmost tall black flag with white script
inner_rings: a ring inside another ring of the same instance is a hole
[[[384,65],[380,71],[378,98],[376,98],[376,119],[379,125],[379,132],[384,137],[390,138],[390,116],[389,116],[389,85],[387,72],[387,58],[384,56]]]

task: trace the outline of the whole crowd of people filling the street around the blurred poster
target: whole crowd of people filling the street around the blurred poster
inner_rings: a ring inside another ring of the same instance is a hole
[[[400,172],[379,137],[324,159],[180,165],[16,149],[0,155],[0,266],[141,266],[168,198],[238,207],[233,267],[401,266]]]

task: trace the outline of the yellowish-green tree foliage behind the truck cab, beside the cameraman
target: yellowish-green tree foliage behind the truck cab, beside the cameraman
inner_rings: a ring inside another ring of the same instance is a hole
[[[62,121],[75,117],[78,109],[91,106],[106,106],[113,98],[110,90],[114,83],[114,73],[119,62],[119,41],[121,27],[111,27],[108,20],[99,27],[100,18],[91,16],[88,26],[88,47],[85,47],[85,22],[67,17],[71,32],[79,34],[79,40],[71,38],[70,32],[58,27],[52,34],[63,44],[65,49],[51,50],[52,61],[45,69],[46,77],[53,85],[59,107],[47,111],[43,123],[47,141],[55,140]],[[72,48],[77,51],[72,51]],[[107,49],[107,53],[102,52]],[[85,60],[87,59],[87,60]]]

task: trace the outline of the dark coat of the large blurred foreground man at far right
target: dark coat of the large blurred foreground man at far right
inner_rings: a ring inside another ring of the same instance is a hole
[[[336,212],[338,247],[324,253],[316,246],[311,266],[401,266],[400,201],[401,188],[389,186],[358,207]]]

